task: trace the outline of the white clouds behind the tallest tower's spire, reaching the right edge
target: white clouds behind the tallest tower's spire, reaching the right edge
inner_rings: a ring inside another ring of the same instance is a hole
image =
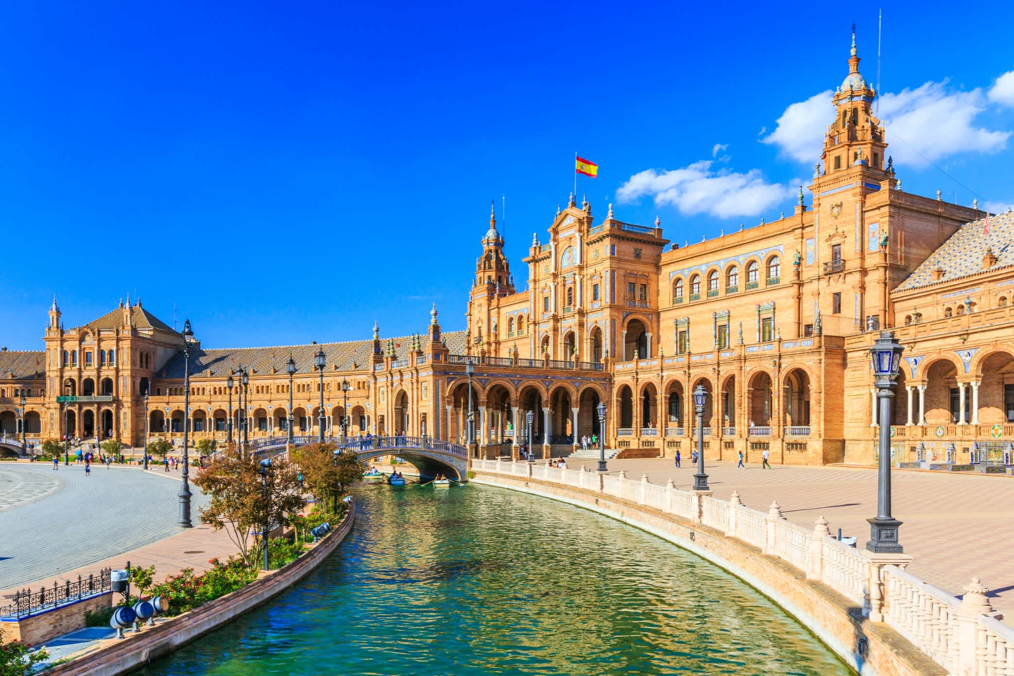
[[[800,162],[815,162],[827,124],[835,117],[829,104],[831,94],[830,90],[822,91],[791,104],[778,119],[775,131],[760,141],[777,146]],[[1014,71],[997,80],[989,99],[1014,105]],[[992,153],[1006,148],[1011,132],[974,124],[986,105],[987,94],[982,89],[953,90],[944,80],[882,94],[879,117],[887,142],[894,144],[891,150],[897,163],[922,164],[918,153],[936,160],[961,152]]]

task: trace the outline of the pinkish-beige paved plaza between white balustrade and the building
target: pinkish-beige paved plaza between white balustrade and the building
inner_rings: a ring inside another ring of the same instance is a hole
[[[597,461],[574,459],[575,469]],[[677,489],[692,487],[696,471],[689,460],[676,469],[671,459],[609,460],[610,473],[664,485],[669,477]],[[857,467],[797,467],[774,465],[760,469],[734,463],[706,463],[716,498],[728,500],[738,491],[743,504],[767,512],[777,500],[791,521],[813,527],[823,515],[831,532],[869,539],[866,519],[876,515],[876,470]],[[972,578],[993,590],[992,602],[1008,621],[1014,620],[1014,479],[1005,476],[891,471],[893,516],[903,521],[900,540],[912,554],[909,570],[951,594]]]

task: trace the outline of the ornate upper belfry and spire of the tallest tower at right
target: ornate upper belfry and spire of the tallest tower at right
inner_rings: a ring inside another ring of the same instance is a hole
[[[842,86],[835,91],[835,122],[827,126],[824,135],[824,175],[847,172],[853,167],[872,170],[877,180],[883,179],[884,128],[873,117],[871,105],[877,92],[859,72],[856,54],[856,27],[852,27],[852,52],[849,56],[849,74]]]

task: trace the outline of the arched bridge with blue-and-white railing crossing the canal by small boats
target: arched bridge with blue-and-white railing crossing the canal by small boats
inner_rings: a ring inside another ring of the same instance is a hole
[[[285,451],[286,437],[270,437],[258,439],[250,444],[255,454],[267,454]],[[292,444],[296,448],[307,444],[315,444],[318,437],[293,437]],[[453,444],[433,437],[361,437],[342,438],[324,437],[324,442],[335,444],[346,451],[353,451],[360,461],[367,462],[382,455],[396,455],[419,469],[419,475],[432,478],[441,473],[458,481],[466,480],[468,467],[468,448],[461,444]]]

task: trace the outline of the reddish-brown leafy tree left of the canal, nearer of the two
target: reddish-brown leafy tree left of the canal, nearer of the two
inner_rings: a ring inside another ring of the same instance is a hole
[[[243,560],[252,566],[257,551],[250,550],[250,535],[264,524],[287,525],[306,501],[295,466],[278,457],[272,460],[267,480],[258,462],[237,457],[234,445],[220,453],[197,475],[194,483],[211,499],[201,508],[201,523],[227,531]]]

